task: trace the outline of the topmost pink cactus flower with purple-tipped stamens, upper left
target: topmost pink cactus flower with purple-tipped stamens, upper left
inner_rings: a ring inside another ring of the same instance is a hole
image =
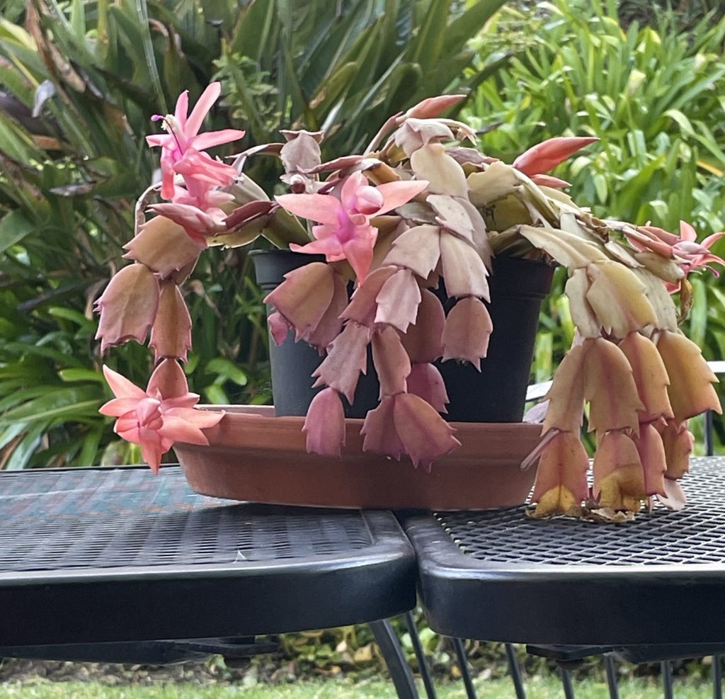
[[[146,136],[146,143],[149,146],[161,146],[161,169],[162,169],[162,187],[161,196],[164,199],[173,199],[174,196],[174,174],[175,165],[185,157],[187,152],[191,149],[191,162],[188,162],[186,167],[194,169],[194,163],[196,162],[197,156],[194,152],[198,153],[206,148],[212,146],[220,146],[221,144],[229,143],[230,141],[236,141],[238,138],[244,136],[244,131],[238,131],[236,129],[223,129],[223,131],[210,131],[208,133],[199,133],[199,129],[202,128],[204,117],[209,113],[218,99],[221,92],[220,83],[211,83],[201,97],[199,102],[196,102],[191,115],[188,115],[188,90],[185,90],[179,95],[176,102],[176,108],[173,115],[168,114],[165,117],[161,115],[155,115],[154,121],[162,120],[164,128],[168,132],[167,134],[154,134],[153,136]],[[205,161],[202,156],[198,156]],[[212,160],[208,155],[208,160]],[[212,161],[215,162],[215,161]],[[218,163],[218,165],[223,165]],[[218,167],[215,166],[215,167]],[[199,162],[196,162],[196,166],[199,166]],[[210,168],[208,162],[206,162],[207,168]],[[223,165],[223,167],[229,167]],[[183,174],[183,173],[181,173]]]

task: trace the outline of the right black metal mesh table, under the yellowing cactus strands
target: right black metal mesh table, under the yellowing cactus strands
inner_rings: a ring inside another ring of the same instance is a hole
[[[405,518],[431,628],[534,644],[725,645],[724,476],[725,458],[694,458],[684,510],[624,524],[534,520],[523,507]]]

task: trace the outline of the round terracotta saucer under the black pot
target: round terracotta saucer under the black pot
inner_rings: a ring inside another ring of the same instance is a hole
[[[232,500],[339,508],[483,510],[520,505],[536,469],[521,460],[539,442],[541,426],[451,423],[461,447],[430,473],[407,457],[363,452],[362,420],[347,420],[341,458],[307,454],[302,417],[274,416],[271,406],[204,406],[226,410],[207,430],[208,447],[175,444],[189,485]]]

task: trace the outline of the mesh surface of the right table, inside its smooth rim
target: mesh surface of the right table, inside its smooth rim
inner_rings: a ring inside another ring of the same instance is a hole
[[[462,553],[478,561],[547,566],[725,563],[725,458],[693,458],[687,506],[655,505],[634,521],[610,524],[526,516],[526,507],[436,513]]]

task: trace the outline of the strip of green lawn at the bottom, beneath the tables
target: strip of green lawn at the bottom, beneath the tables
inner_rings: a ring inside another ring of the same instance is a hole
[[[421,698],[425,696],[419,688]],[[481,699],[510,699],[514,696],[513,686],[508,679],[476,681]],[[464,699],[462,682],[438,683],[439,699]],[[562,686],[555,676],[535,677],[526,682],[531,699],[561,699]],[[608,696],[603,682],[584,680],[575,682],[577,699],[602,699]],[[676,679],[677,699],[703,699],[710,696],[711,687],[702,682]],[[661,699],[663,689],[654,679],[627,679],[620,683],[622,697],[637,699]],[[296,682],[244,687],[230,684],[178,683],[160,685],[129,685],[109,687],[96,682],[22,682],[0,686],[0,699],[395,699],[396,694],[389,682],[375,680],[353,684],[344,679],[326,682]]]

